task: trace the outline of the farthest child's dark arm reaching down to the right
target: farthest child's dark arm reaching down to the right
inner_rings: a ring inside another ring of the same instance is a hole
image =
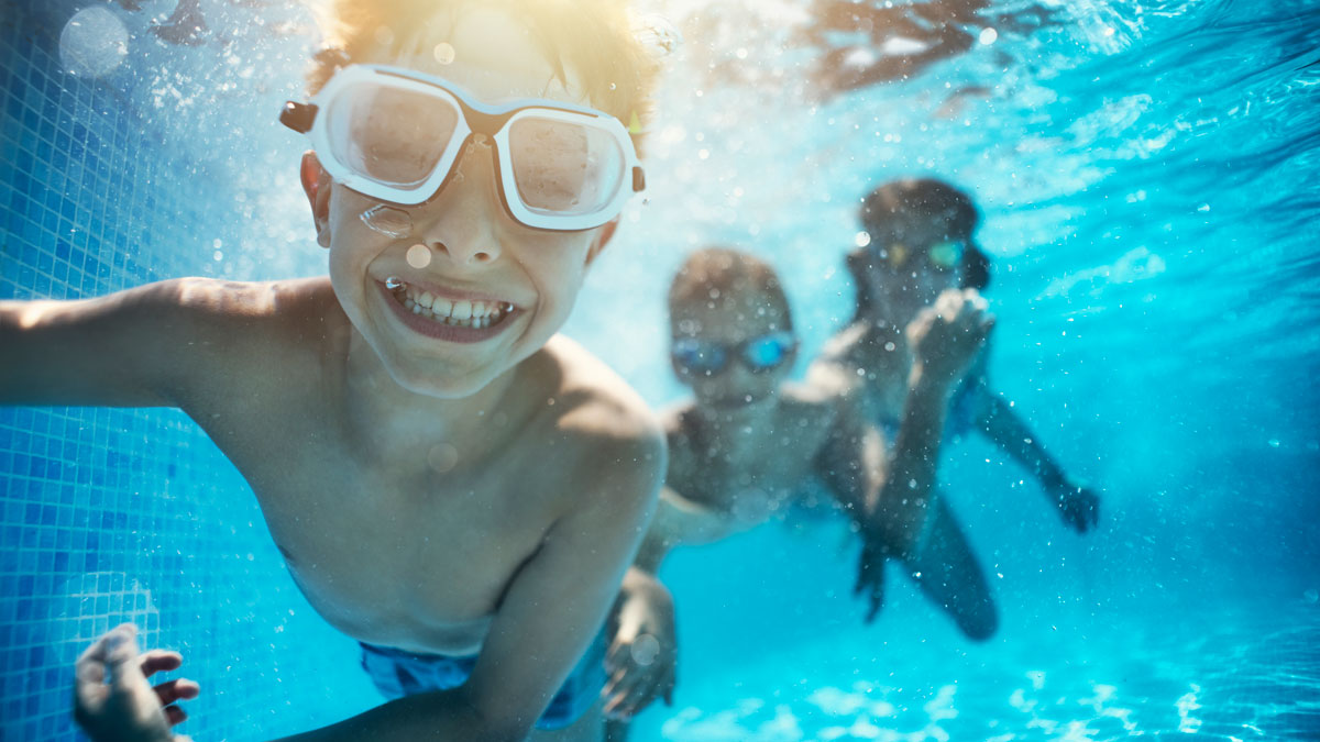
[[[1040,438],[1027,428],[1002,396],[979,388],[977,425],[1001,450],[1026,466],[1045,495],[1059,508],[1069,528],[1085,533],[1100,519],[1100,495],[1086,485],[1064,473],[1063,467],[1045,452]]]

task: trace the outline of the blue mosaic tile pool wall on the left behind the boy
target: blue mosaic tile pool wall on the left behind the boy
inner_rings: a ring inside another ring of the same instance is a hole
[[[75,9],[0,8],[0,298],[223,275],[213,246],[242,240],[235,194],[165,144],[124,84],[62,70]],[[0,739],[77,738],[73,661],[123,621],[183,652],[202,697],[182,731],[198,739],[276,737],[379,702],[186,416],[0,408]]]

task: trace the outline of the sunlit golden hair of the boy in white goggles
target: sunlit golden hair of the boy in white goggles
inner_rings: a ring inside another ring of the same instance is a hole
[[[656,61],[634,30],[622,0],[329,0],[321,11],[326,48],[313,58],[308,92],[319,91],[334,73],[374,51],[396,51],[404,40],[440,12],[458,18],[478,5],[498,5],[525,18],[532,40],[568,84],[565,67],[581,75],[591,106],[630,127],[649,115]]]

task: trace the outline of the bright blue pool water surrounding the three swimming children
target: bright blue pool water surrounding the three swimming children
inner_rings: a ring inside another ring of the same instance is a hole
[[[173,1],[95,5],[96,33],[67,36],[86,5],[0,5],[0,296],[319,272],[302,143],[273,116],[309,16],[203,3],[203,44],[182,48],[148,28]],[[647,202],[566,331],[653,404],[680,399],[668,277],[738,244],[784,276],[809,358],[850,314],[858,197],[944,177],[985,213],[995,383],[1105,500],[1076,536],[990,446],[949,450],[1001,610],[982,644],[896,574],[863,626],[857,544],[828,520],[676,553],[675,706],[635,739],[1320,738],[1320,4],[998,18],[1028,5],[986,12],[997,32],[966,54],[837,96],[804,82],[804,0],[661,8],[686,40]],[[379,702],[185,416],[0,409],[0,738],[73,738],[71,660],[121,619],[183,651],[197,739]]]

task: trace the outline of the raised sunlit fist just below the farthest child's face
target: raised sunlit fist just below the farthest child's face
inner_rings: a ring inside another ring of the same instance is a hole
[[[913,372],[953,384],[966,375],[985,346],[994,316],[975,289],[949,289],[907,326]]]

